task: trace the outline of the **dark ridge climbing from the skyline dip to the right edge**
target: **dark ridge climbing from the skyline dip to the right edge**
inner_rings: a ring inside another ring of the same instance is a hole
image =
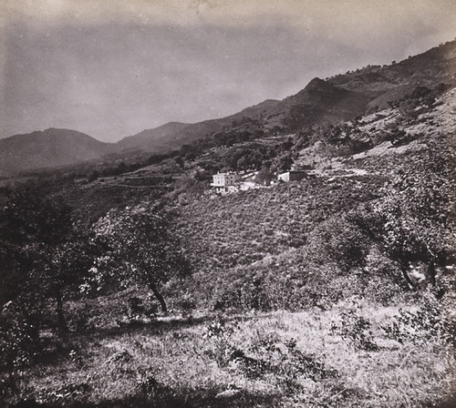
[[[327,80],[312,79],[307,86],[283,100],[268,99],[229,117],[178,127],[171,124],[125,138],[119,145],[155,151],[183,144],[236,127],[244,118],[259,121],[268,133],[286,134],[315,124],[337,124],[369,110],[388,107],[415,87],[455,84],[456,41],[431,48],[389,66],[366,66]],[[162,133],[166,129],[166,132]]]

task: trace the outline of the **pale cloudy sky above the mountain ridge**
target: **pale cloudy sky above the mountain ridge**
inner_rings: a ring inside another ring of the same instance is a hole
[[[115,142],[455,37],[454,0],[0,0],[0,138]]]

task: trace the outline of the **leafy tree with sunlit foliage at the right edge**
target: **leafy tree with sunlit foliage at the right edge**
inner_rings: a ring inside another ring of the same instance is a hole
[[[455,248],[450,163],[433,152],[411,158],[393,172],[382,199],[352,218],[397,262],[410,286],[415,286],[410,263],[427,264],[428,278],[435,283],[436,266],[444,266]]]

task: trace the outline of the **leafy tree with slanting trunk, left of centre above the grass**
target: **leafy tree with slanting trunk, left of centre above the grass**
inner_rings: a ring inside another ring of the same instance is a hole
[[[169,218],[158,209],[139,206],[110,211],[95,225],[98,242],[108,248],[95,271],[123,286],[146,284],[163,312],[167,306],[160,285],[190,272],[184,251],[170,233]]]

